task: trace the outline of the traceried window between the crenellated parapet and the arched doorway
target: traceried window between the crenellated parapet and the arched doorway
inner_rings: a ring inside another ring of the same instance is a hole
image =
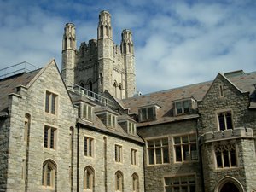
[[[218,168],[236,167],[236,146],[234,144],[215,147],[215,157]]]

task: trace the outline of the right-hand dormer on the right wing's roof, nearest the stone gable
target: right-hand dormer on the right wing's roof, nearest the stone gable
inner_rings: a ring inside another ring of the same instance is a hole
[[[192,98],[174,102],[175,115],[191,113],[191,110],[195,108],[197,108],[197,105],[195,100]]]

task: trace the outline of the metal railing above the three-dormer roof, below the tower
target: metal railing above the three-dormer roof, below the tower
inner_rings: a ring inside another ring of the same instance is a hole
[[[79,86],[78,84],[73,84],[73,86],[67,86],[68,90],[72,90],[74,93],[77,93],[81,96],[86,96],[91,101],[99,102],[103,106],[108,106],[109,108],[113,108],[113,101],[108,99],[107,97],[96,94],[93,91],[87,90],[84,87]]]

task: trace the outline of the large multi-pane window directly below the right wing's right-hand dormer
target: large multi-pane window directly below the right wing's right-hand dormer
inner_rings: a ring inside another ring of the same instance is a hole
[[[173,137],[176,162],[197,160],[197,145],[195,134]]]

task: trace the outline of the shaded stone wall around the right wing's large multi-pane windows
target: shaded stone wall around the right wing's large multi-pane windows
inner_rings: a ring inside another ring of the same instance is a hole
[[[165,165],[148,166],[148,154],[144,148],[144,170],[145,170],[145,190],[147,192],[159,192],[164,190],[164,177],[173,177],[195,173],[196,191],[201,192],[201,169],[199,160],[174,163],[173,136],[196,133],[196,119],[177,121],[163,125],[152,125],[137,127],[138,134],[145,140],[148,138],[168,137],[170,163]]]

